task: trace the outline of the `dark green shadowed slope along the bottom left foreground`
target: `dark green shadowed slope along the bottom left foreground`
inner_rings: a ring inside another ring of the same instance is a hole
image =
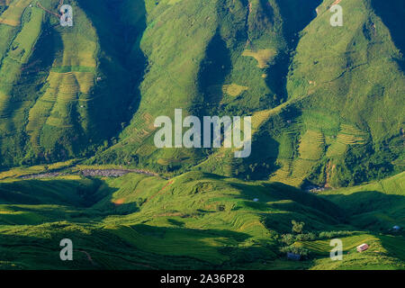
[[[0,233],[0,267],[79,270],[219,269],[271,261],[277,257],[275,247],[238,247],[237,242],[250,237],[241,232],[139,224],[131,227],[137,235],[133,236],[130,230],[117,228],[85,229],[68,222],[53,222],[30,226],[22,233],[17,226],[15,230],[8,229],[7,234]],[[74,261],[60,260],[59,253],[63,247],[59,244],[63,238],[72,240]],[[10,263],[10,267],[4,266],[7,263]]]

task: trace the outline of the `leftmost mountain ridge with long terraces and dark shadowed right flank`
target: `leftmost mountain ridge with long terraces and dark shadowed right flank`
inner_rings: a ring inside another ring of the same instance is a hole
[[[76,2],[70,3],[75,24],[61,27],[55,15],[61,3],[16,0],[0,16],[4,166],[94,152],[121,129],[121,107],[132,102],[128,67],[111,42],[121,40],[117,27],[95,27],[93,14]]]

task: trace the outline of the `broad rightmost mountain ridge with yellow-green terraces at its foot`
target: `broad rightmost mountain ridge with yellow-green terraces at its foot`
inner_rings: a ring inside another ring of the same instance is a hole
[[[301,33],[287,79],[289,99],[279,109],[254,113],[252,155],[231,165],[239,175],[346,186],[403,171],[400,51],[370,2],[340,2],[356,10],[341,29],[329,25],[331,3],[321,4]]]

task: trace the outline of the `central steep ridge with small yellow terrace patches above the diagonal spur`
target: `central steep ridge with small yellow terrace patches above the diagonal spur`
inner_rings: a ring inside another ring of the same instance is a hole
[[[312,1],[299,14],[302,22],[311,21],[317,3]],[[183,108],[184,114],[202,116],[246,115],[276,107],[287,97],[283,77],[287,74],[288,48],[295,47],[293,40],[304,24],[288,24],[298,14],[300,5],[296,1],[282,4],[281,8],[276,1],[210,1],[204,3],[203,9],[192,1],[178,4],[163,1],[150,6],[153,8],[148,15],[148,29],[141,41],[149,67],[141,85],[139,112],[122,133],[121,143],[95,161],[103,163],[111,155],[116,159],[136,157],[138,165],[160,171],[184,171],[204,160],[211,151],[157,150],[152,137],[153,119],[159,115],[173,116],[175,108]],[[198,17],[173,21],[173,15],[180,11],[190,11]],[[291,19],[284,19],[284,14]],[[171,29],[171,25],[179,25],[181,29]],[[150,49],[149,43],[155,39],[159,41],[153,42],[154,49]],[[165,54],[156,58],[157,50],[163,51],[163,47]],[[177,66],[181,70],[167,73]],[[154,80],[150,85],[149,77]],[[210,171],[213,167],[207,168]]]

